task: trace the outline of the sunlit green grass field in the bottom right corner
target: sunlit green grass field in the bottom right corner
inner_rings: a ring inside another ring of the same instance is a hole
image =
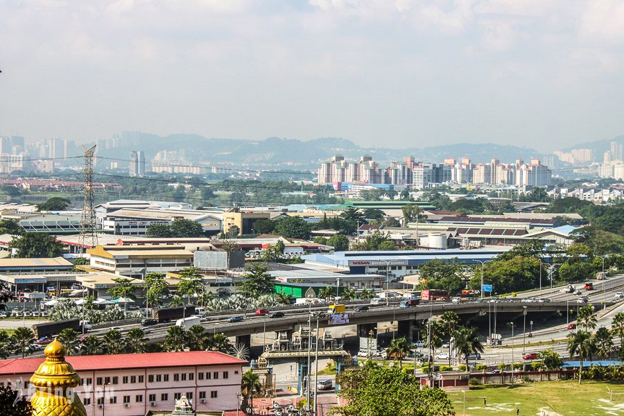
[[[466,393],[466,415],[624,415],[624,394],[609,399],[607,386],[624,393],[624,383],[584,381],[548,381],[515,385],[471,387]],[[449,393],[456,415],[463,415],[462,392]],[[483,397],[487,406],[483,406]]]

